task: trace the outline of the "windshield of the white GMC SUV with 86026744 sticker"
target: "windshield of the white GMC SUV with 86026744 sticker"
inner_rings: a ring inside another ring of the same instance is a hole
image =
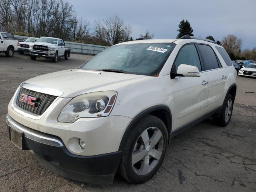
[[[176,44],[134,43],[114,45],[85,62],[80,69],[116,70],[154,76],[160,72]]]

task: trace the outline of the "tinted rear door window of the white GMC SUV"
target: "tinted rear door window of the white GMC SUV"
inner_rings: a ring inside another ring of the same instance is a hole
[[[210,46],[198,44],[198,49],[202,56],[202,60],[204,63],[204,70],[219,68],[216,55]]]

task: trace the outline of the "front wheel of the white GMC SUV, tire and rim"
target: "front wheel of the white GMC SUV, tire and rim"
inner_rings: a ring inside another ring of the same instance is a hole
[[[126,140],[119,173],[126,181],[143,183],[160,168],[168,145],[165,124],[156,116],[146,115],[136,122]]]

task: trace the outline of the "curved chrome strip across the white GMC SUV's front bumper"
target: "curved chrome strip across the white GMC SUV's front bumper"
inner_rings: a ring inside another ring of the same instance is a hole
[[[28,128],[13,120],[8,114],[6,115],[6,124],[18,132],[24,133],[24,136],[28,139],[55,147],[64,146],[61,140],[54,138],[54,136]]]

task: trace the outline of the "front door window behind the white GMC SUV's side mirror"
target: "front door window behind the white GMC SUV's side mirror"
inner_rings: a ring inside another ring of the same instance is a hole
[[[198,52],[194,44],[186,45],[180,50],[175,60],[176,70],[178,70],[180,64],[196,66],[199,71],[202,71]]]

